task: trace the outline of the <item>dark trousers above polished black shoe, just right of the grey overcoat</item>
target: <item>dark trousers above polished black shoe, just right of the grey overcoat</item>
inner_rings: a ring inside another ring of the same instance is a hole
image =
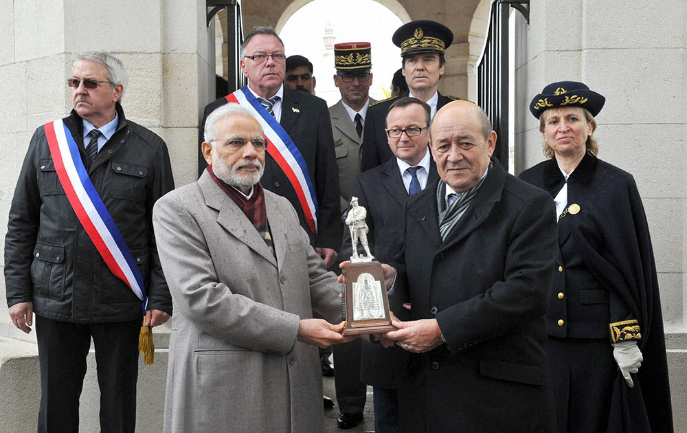
[[[339,412],[361,414],[365,408],[368,386],[360,380],[361,342],[334,345],[334,386]]]

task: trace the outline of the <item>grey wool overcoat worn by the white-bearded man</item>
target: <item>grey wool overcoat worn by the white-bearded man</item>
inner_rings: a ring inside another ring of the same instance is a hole
[[[296,337],[313,311],[341,320],[339,285],[289,202],[264,199],[275,254],[209,173],[155,206],[174,300],[165,432],[322,431],[319,355]]]

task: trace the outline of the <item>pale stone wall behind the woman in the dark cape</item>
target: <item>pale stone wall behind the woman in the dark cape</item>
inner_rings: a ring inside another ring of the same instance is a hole
[[[631,173],[658,270],[675,426],[687,423],[687,19],[684,2],[532,0],[517,23],[516,171],[543,160],[528,104],[545,85],[585,82],[606,97],[599,157]]]

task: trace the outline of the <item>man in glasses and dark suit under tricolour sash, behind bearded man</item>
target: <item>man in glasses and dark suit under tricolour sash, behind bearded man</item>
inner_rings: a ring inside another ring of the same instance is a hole
[[[291,202],[302,227],[310,236],[311,245],[327,267],[331,267],[337,258],[341,240],[341,209],[334,138],[327,104],[302,91],[284,88],[284,43],[272,27],[255,27],[246,36],[242,47],[241,70],[248,78],[247,90],[258,100],[262,99],[260,103],[267,111],[271,111],[302,155],[317,200],[316,230],[313,231],[313,227],[308,225],[304,205],[289,177],[275,162],[269,147],[260,182],[265,189]],[[226,98],[220,98],[207,104],[203,125],[207,115],[227,103]]]

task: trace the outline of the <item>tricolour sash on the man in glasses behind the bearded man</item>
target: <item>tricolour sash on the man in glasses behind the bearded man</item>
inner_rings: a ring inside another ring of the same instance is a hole
[[[264,137],[268,142],[267,153],[279,165],[291,182],[303,209],[305,221],[310,230],[317,234],[317,197],[315,197],[315,188],[313,188],[313,182],[310,179],[305,159],[296,145],[293,144],[289,134],[262,107],[258,98],[251,93],[247,86],[227,95],[226,98],[228,102],[240,104],[242,107],[247,108],[258,118],[258,122],[260,122],[260,126],[262,126],[264,131]]]

